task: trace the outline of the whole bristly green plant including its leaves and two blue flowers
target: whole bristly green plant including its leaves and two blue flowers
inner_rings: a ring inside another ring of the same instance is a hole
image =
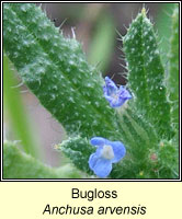
[[[25,155],[8,141],[4,177],[178,178],[178,13],[177,5],[169,69],[162,66],[146,10],[132,22],[122,37],[128,82],[117,88],[109,77],[103,80],[87,62],[81,45],[65,38],[41,8],[4,3],[4,62],[11,60],[22,81],[65,127],[69,137],[55,148],[81,171],[47,168],[31,158],[31,150],[26,148]]]

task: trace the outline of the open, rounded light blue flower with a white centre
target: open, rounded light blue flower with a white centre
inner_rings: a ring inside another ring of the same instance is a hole
[[[106,177],[112,171],[112,163],[118,162],[126,153],[124,145],[120,141],[110,141],[102,137],[90,140],[96,151],[89,158],[89,166],[95,175]]]

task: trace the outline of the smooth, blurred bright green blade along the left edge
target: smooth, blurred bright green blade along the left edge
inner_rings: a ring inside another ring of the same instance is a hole
[[[3,101],[4,107],[12,122],[13,130],[26,153],[33,157],[38,157],[38,150],[35,146],[32,130],[26,117],[25,108],[22,103],[19,90],[13,89],[18,81],[10,70],[10,64],[7,56],[3,56]]]

